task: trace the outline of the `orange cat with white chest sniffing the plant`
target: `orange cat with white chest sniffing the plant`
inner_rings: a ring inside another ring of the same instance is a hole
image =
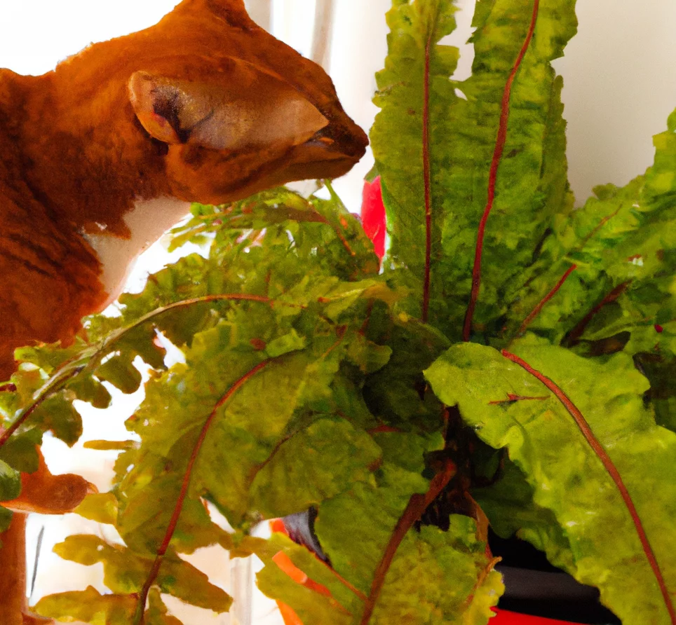
[[[366,144],[330,78],[242,0],[184,0],[43,76],[0,70],[0,380],[14,348],[68,341],[102,310],[188,202],[337,177]],[[24,520],[0,535],[2,625],[37,622]]]

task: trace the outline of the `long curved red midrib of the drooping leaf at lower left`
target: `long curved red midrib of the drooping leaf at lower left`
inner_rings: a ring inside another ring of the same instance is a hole
[[[239,378],[229,389],[224,393],[224,395],[217,401],[217,404],[214,406],[214,409],[211,411],[210,415],[208,418],[205,420],[204,425],[202,426],[202,430],[199,434],[199,437],[197,439],[197,442],[195,443],[195,446],[193,447],[192,453],[190,454],[190,458],[188,460],[188,466],[186,468],[185,474],[183,476],[183,483],[181,484],[181,490],[178,495],[178,499],[176,501],[176,505],[174,507],[173,514],[171,515],[169,524],[167,526],[167,530],[164,535],[164,540],[162,541],[162,544],[160,547],[157,549],[156,552],[156,557],[155,561],[150,569],[150,572],[148,574],[148,577],[143,584],[143,588],[141,589],[141,592],[138,596],[138,603],[136,605],[136,614],[134,617],[134,622],[139,625],[143,625],[144,623],[144,612],[145,612],[145,605],[146,601],[148,598],[148,593],[150,591],[151,586],[155,583],[155,580],[157,579],[157,575],[160,571],[160,567],[162,565],[162,561],[164,558],[165,553],[167,552],[167,549],[169,548],[169,544],[171,542],[171,539],[173,538],[174,531],[176,530],[176,526],[178,524],[178,520],[181,516],[181,512],[183,510],[183,504],[185,501],[185,497],[188,493],[188,488],[190,486],[190,480],[192,477],[192,472],[193,468],[195,466],[195,462],[197,460],[197,457],[200,453],[200,450],[202,448],[202,445],[207,437],[207,434],[209,432],[209,428],[211,427],[211,424],[213,423],[213,420],[216,417],[216,413],[218,412],[219,408],[221,408],[229,399],[243,386],[245,383],[248,382],[253,376],[256,375],[259,371],[264,369],[266,366],[270,364],[272,359],[267,359],[262,362],[259,362],[253,369],[250,369],[250,371],[247,371],[241,378]]]

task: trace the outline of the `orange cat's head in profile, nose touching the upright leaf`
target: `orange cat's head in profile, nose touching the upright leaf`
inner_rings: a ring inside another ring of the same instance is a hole
[[[128,96],[145,132],[167,146],[179,198],[221,203],[338,177],[365,152],[323,69],[255,25],[242,0],[184,0],[135,35],[139,46]]]

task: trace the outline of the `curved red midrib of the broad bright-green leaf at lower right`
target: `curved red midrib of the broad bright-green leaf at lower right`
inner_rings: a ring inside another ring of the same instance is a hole
[[[624,485],[624,482],[622,481],[620,472],[614,465],[613,461],[610,459],[610,456],[607,454],[602,444],[600,444],[598,439],[595,437],[594,433],[589,427],[589,424],[587,423],[587,420],[583,417],[582,413],[579,411],[579,408],[577,408],[577,406],[573,404],[573,402],[569,399],[567,394],[565,394],[565,392],[563,392],[560,389],[560,387],[558,387],[553,382],[553,380],[550,380],[550,378],[543,375],[543,373],[540,373],[536,369],[533,369],[532,366],[530,366],[524,360],[520,359],[520,357],[515,356],[514,354],[511,354],[506,350],[502,350],[502,355],[505,358],[511,360],[512,362],[515,362],[520,367],[522,367],[522,369],[525,369],[532,376],[540,380],[540,382],[543,383],[543,385],[545,385],[551,392],[553,392],[553,394],[555,394],[556,399],[558,399],[563,404],[568,413],[574,419],[575,423],[577,424],[577,427],[579,427],[580,431],[582,432],[583,437],[585,437],[589,446],[593,449],[594,453],[597,455],[597,458],[599,458],[599,460],[601,460],[601,462],[603,463],[603,466],[605,467],[609,476],[611,476],[611,479],[614,481],[615,486],[617,486],[617,489],[620,492],[622,500],[629,511],[629,514],[634,523],[634,527],[636,528],[636,533],[638,534],[639,540],[641,541],[644,554],[648,559],[648,562],[650,563],[650,568],[653,570],[653,573],[657,579],[657,584],[660,587],[660,591],[664,598],[664,603],[667,607],[667,611],[669,612],[669,617],[671,619],[672,625],[676,625],[676,608],[672,603],[672,599],[667,589],[667,585],[664,581],[662,571],[657,563],[657,558],[655,557],[654,551],[650,546],[650,542],[643,528],[643,523],[641,522],[641,518],[638,514],[638,511],[634,505],[631,495],[629,494],[629,491],[627,490],[627,487]]]

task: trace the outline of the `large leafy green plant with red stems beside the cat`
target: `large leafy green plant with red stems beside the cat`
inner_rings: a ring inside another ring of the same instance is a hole
[[[194,205],[172,245],[208,258],[151,276],[72,347],[20,350],[0,396],[15,468],[44,430],[74,439],[73,399],[105,406],[103,382],[131,392],[135,359],[151,368],[130,440],[97,444],[120,451],[113,488],[78,509],[123,544],[57,547],[103,563],[111,593],[38,612],[175,624],[161,593],[226,611],[180,557],[220,544],[262,558],[257,583],[289,622],[484,624],[503,592],[490,526],[597,587],[623,624],[676,624],[676,116],[644,175],[574,210],[550,64],[574,1],[479,2],[462,82],[438,43],[453,13],[388,13],[371,131],[382,266],[330,184]],[[184,362],[165,366],[167,342]],[[324,560],[250,534],[308,508]]]

